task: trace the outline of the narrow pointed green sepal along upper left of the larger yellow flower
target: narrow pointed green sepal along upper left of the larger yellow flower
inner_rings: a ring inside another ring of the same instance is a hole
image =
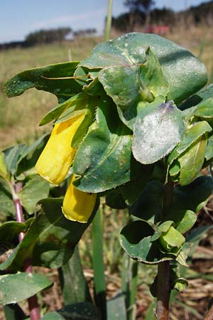
[[[82,101],[83,100],[83,101]],[[87,96],[84,95],[83,92],[78,93],[77,95],[74,95],[73,97],[70,97],[70,99],[65,100],[64,102],[60,103],[57,107],[54,107],[52,110],[50,110],[43,119],[40,120],[40,126],[43,126],[44,124],[48,124],[49,122],[58,119],[60,115],[65,112],[65,110],[68,110],[71,108],[70,113],[75,110],[75,108],[80,104],[82,105],[82,102],[87,101]]]

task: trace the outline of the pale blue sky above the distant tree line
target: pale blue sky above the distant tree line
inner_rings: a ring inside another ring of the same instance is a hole
[[[205,0],[155,0],[156,8],[175,11],[197,6]],[[22,41],[33,31],[69,26],[104,30],[108,0],[0,0],[0,43]],[[114,0],[113,16],[127,11],[124,0]]]

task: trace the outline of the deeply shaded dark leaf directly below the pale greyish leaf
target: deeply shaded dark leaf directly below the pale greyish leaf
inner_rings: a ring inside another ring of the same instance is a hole
[[[153,174],[153,165],[144,166],[135,159],[131,159],[131,180],[119,187],[126,203],[131,206],[144,191]]]

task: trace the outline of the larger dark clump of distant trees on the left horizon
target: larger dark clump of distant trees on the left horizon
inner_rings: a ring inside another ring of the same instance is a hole
[[[29,33],[28,36],[26,36],[25,41],[29,46],[41,43],[53,43],[56,41],[65,40],[65,36],[67,36],[71,32],[71,28],[55,28],[48,30],[42,29],[33,33]]]

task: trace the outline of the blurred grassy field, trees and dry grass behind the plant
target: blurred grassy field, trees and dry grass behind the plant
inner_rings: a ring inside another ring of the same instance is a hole
[[[141,2],[145,6],[142,6]],[[213,82],[213,1],[192,6],[180,12],[155,8],[154,1],[126,0],[125,4],[128,12],[112,18],[111,38],[132,31],[158,33],[179,43],[200,58],[207,67],[209,82]],[[53,95],[34,89],[23,96],[9,99],[3,92],[4,82],[24,69],[67,60],[80,61],[91,53],[97,43],[102,41],[104,38],[97,36],[94,28],[73,32],[72,28],[67,26],[67,28],[38,30],[29,33],[24,41],[0,44],[1,149],[20,142],[29,144],[44,132],[49,132],[51,125],[38,127],[38,123],[50,108],[58,104]],[[104,203],[102,207],[105,213],[104,262],[107,266],[107,297],[111,297],[121,287],[118,274],[121,272],[122,264],[125,264],[125,259],[118,235],[119,230],[129,219],[129,215],[125,211],[111,210]],[[197,225],[212,223],[212,208],[213,203],[210,201],[200,213]],[[190,277],[190,287],[180,296],[178,302],[175,302],[171,314],[172,320],[202,319],[209,297],[213,298],[212,245],[212,238],[206,235],[193,257],[193,265],[187,272],[187,277]],[[93,271],[90,252],[92,252],[92,244],[89,230],[80,241],[80,254],[85,275],[92,286]],[[155,271],[155,266],[140,265],[137,319],[143,319],[143,314],[151,304],[152,297],[148,284],[153,281]],[[57,278],[54,271],[51,271],[50,276]],[[55,281],[58,280],[55,279]],[[62,302],[59,287],[54,286],[44,295],[43,301],[48,308],[60,308]]]

